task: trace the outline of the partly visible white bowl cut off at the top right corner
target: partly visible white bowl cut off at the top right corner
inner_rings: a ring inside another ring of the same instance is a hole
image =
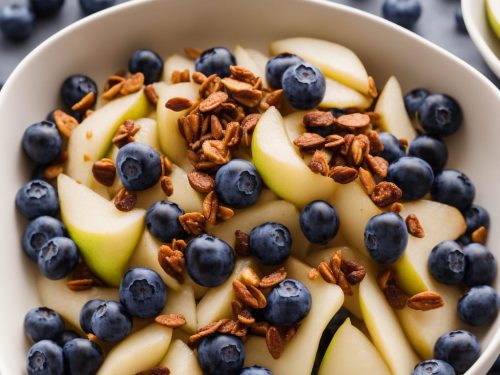
[[[484,0],[462,0],[462,13],[472,41],[490,69],[500,78],[500,40],[488,23]]]

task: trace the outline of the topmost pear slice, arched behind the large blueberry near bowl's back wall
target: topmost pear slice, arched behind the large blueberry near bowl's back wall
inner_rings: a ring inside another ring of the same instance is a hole
[[[349,48],[315,38],[288,38],[269,46],[271,53],[294,53],[316,65],[323,74],[368,95],[368,74],[361,60]]]

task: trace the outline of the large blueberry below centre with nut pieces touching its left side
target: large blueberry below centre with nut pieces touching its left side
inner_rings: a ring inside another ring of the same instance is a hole
[[[198,284],[215,287],[234,269],[233,249],[217,237],[201,234],[189,241],[184,251],[186,270]]]

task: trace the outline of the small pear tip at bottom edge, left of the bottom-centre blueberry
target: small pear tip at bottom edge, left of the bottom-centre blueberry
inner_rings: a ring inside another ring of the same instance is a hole
[[[158,366],[168,368],[170,375],[203,375],[196,354],[178,339],[172,341]]]

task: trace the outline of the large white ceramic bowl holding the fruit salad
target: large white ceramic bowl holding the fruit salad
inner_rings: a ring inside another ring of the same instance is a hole
[[[19,64],[1,91],[5,130],[0,137],[1,374],[24,372],[28,343],[23,317],[38,304],[35,269],[19,245],[24,220],[14,207],[16,191],[30,175],[21,152],[21,137],[26,126],[58,105],[62,79],[79,72],[102,83],[110,72],[125,66],[139,47],[163,55],[182,51],[185,46],[236,43],[265,51],[270,41],[287,36],[339,42],[360,56],[380,85],[396,75],[404,91],[423,86],[449,93],[461,103],[465,123],[447,140],[449,164],[475,182],[476,201],[491,213],[489,244],[500,259],[500,169],[496,166],[500,159],[500,92],[477,71],[414,33],[326,1],[131,1],[81,20],[50,38]],[[499,288],[498,280],[496,286]],[[481,333],[483,354],[467,374],[484,375],[493,363],[500,349],[499,326],[497,320]]]

